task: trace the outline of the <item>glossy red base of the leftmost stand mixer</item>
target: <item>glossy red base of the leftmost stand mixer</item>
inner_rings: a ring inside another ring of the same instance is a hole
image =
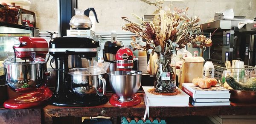
[[[24,93],[4,102],[3,106],[9,109],[24,109],[44,104],[52,96],[49,88],[38,88],[32,93]]]

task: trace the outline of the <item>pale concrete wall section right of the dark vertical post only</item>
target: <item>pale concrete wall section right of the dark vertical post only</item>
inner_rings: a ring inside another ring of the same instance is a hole
[[[150,0],[153,1],[153,0]],[[172,8],[189,7],[189,16],[199,16],[201,23],[207,23],[214,17],[214,12],[222,12],[233,8],[235,15],[244,15],[247,18],[256,17],[256,0],[187,0],[164,2],[164,6]],[[124,22],[121,17],[132,18],[131,13],[143,16],[152,14],[155,6],[149,6],[140,0],[79,0],[79,8],[94,7],[99,18],[95,31],[122,31]],[[136,20],[136,19],[134,19]]]

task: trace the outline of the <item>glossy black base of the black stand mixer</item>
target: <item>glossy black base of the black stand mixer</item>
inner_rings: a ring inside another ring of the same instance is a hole
[[[108,102],[107,96],[95,96],[90,98],[80,98],[74,100],[65,100],[65,101],[52,101],[52,105],[55,106],[66,106],[66,107],[89,107],[105,104]]]

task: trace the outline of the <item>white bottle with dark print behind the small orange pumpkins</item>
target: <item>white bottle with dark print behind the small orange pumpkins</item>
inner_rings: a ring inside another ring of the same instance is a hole
[[[204,78],[214,78],[214,65],[212,59],[206,59],[204,64]]]

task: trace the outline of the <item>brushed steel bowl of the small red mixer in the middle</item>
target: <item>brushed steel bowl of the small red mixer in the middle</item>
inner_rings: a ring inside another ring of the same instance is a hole
[[[130,101],[140,89],[141,74],[137,72],[128,75],[129,71],[112,71],[108,73],[109,82],[113,92],[119,96],[119,101]]]

